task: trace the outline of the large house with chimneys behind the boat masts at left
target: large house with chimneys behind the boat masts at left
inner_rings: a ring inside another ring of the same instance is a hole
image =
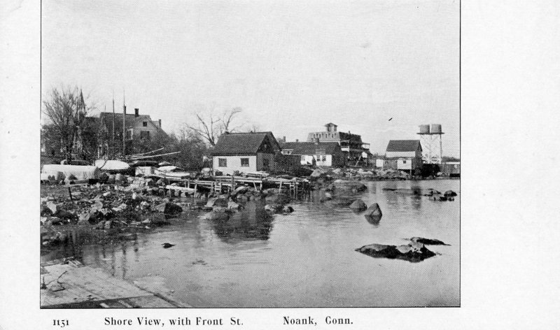
[[[125,129],[123,130],[123,117]],[[157,134],[166,134],[162,129],[162,120],[152,120],[150,115],[140,115],[139,109],[132,113],[107,113],[99,114],[99,135],[97,157],[113,157],[111,152],[111,141],[115,141],[113,149],[122,151],[123,131],[125,141],[130,145],[135,139],[150,140]],[[113,137],[114,134],[114,137]]]

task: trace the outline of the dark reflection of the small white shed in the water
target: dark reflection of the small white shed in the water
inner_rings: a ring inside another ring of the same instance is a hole
[[[267,213],[265,204],[247,203],[245,207],[232,214],[228,221],[213,223],[214,231],[223,241],[269,239],[274,217]]]

